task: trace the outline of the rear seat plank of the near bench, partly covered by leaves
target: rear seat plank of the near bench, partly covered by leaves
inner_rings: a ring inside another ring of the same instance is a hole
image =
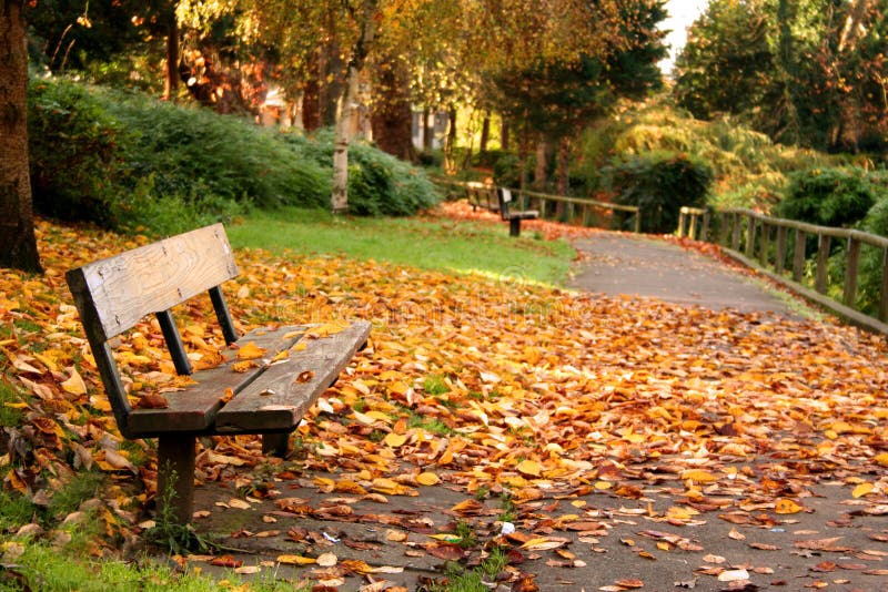
[[[304,333],[305,327],[297,326],[262,327],[241,337],[238,344],[243,346],[253,341],[256,347],[266,351],[264,358],[271,359],[279,351],[290,348]],[[130,430],[143,438],[171,431],[211,431],[226,390],[231,389],[236,396],[259,376],[255,368],[246,372],[231,369],[231,363],[236,361],[235,348],[226,348],[222,354],[225,360],[220,366],[191,375],[195,385],[183,390],[164,392],[169,407],[133,409],[128,418]],[[262,364],[262,360],[256,361]]]

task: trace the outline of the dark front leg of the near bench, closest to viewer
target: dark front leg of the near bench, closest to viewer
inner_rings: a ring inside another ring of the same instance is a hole
[[[191,522],[194,506],[194,446],[192,435],[168,435],[158,439],[158,513],[172,507],[171,518]]]

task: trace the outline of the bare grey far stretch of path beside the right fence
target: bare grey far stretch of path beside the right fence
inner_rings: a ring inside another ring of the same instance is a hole
[[[795,317],[764,284],[674,243],[596,233],[574,241],[583,263],[571,287],[608,296],[640,296],[679,305]]]

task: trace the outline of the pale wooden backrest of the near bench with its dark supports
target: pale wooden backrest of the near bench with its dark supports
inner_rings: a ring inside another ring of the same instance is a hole
[[[170,309],[209,292],[228,343],[238,339],[219,286],[238,275],[225,229],[214,224],[100,259],[65,274],[121,432],[131,406],[108,340],[154,314],[179,374],[191,374]]]

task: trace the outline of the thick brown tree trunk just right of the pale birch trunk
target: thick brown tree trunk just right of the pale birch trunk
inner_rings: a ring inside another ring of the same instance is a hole
[[[376,145],[403,161],[414,161],[413,113],[410,103],[410,72],[403,60],[380,60],[376,69],[374,109],[371,115]]]

